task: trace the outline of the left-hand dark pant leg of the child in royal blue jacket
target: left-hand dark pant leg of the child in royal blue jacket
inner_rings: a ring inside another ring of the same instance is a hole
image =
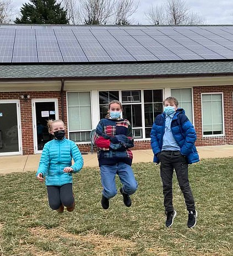
[[[159,153],[160,176],[162,180],[162,192],[164,193],[164,207],[166,212],[174,211],[172,203],[172,177],[174,167],[172,164],[172,151]]]

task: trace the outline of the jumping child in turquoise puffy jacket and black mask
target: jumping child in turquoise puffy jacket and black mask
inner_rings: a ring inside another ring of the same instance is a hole
[[[54,139],[48,141],[42,151],[36,177],[47,186],[48,203],[53,210],[62,213],[75,207],[72,173],[83,167],[83,157],[77,145],[65,137],[65,125],[61,120],[48,120],[48,131]],[[72,164],[72,158],[74,164]]]

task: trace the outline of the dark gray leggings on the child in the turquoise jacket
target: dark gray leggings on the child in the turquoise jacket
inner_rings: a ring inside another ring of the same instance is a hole
[[[53,210],[57,210],[61,204],[72,207],[74,203],[72,183],[62,186],[47,186],[48,204]]]

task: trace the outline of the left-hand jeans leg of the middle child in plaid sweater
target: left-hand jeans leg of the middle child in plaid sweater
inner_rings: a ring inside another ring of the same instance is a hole
[[[105,198],[113,198],[117,194],[116,188],[116,164],[111,166],[104,165],[100,167],[101,183],[103,186],[102,194]]]

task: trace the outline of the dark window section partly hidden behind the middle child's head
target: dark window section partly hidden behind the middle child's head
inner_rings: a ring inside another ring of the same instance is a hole
[[[100,119],[105,118],[112,100],[119,100],[118,91],[99,92]]]

